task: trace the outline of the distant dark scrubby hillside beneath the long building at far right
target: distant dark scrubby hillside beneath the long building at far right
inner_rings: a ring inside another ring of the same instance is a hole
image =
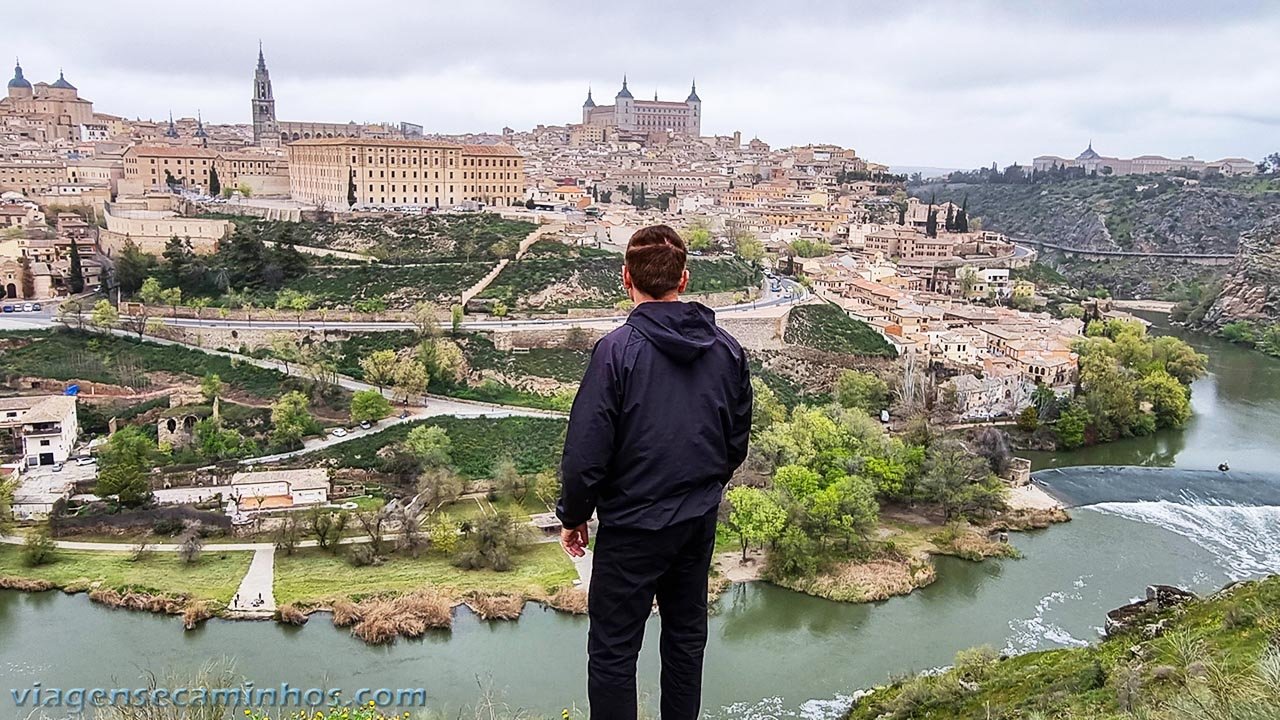
[[[1123,176],[1037,184],[914,187],[924,201],[968,199],[969,217],[1015,238],[1092,250],[1234,252],[1240,233],[1280,215],[1280,181]]]

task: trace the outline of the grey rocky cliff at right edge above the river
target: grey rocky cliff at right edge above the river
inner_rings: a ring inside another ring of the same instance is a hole
[[[1233,320],[1280,322],[1280,215],[1240,236],[1222,290],[1198,325],[1220,328]]]

